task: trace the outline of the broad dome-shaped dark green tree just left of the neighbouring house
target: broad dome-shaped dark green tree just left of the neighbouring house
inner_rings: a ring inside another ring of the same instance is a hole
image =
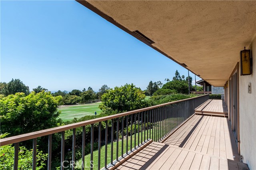
[[[175,90],[177,93],[188,94],[188,82],[172,80],[163,85],[162,89]]]

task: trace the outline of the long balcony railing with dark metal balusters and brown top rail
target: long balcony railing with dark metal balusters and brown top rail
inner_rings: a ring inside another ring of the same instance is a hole
[[[47,169],[50,170],[52,168],[52,135],[60,132],[60,169],[64,170],[63,162],[65,161],[65,131],[70,130],[73,134],[72,162],[75,162],[76,128],[82,127],[82,164],[84,165],[86,146],[85,130],[86,126],[90,126],[90,161],[94,161],[94,142],[98,142],[98,159],[96,160],[97,164],[95,165],[97,165],[98,170],[101,168],[108,169],[111,166],[114,166],[116,162],[120,161],[126,155],[130,154],[130,152],[133,152],[138,147],[142,146],[148,140],[152,139],[155,142],[160,142],[163,140],[175,128],[180,126],[182,122],[194,114],[194,109],[196,107],[200,106],[208,99],[209,95],[206,94],[185,100],[115,114],[112,116],[105,116],[84,122],[22,134],[1,139],[0,145],[4,146],[14,144],[14,170],[18,170],[19,143],[26,140],[33,140],[32,169],[35,170],[37,139],[41,136],[48,135],[48,162],[46,166]],[[105,128],[102,127],[103,122],[105,124]],[[94,124],[96,123],[98,123],[98,130],[94,131]],[[121,147],[119,147],[120,143]],[[104,156],[101,155],[102,148],[104,148]],[[116,150],[115,154],[114,148]],[[110,150],[110,153],[108,150]],[[109,162],[108,158],[110,158]],[[74,169],[75,166],[72,166],[72,170]],[[93,169],[93,167],[90,167],[90,169]],[[82,170],[84,170],[84,166],[82,166]]]

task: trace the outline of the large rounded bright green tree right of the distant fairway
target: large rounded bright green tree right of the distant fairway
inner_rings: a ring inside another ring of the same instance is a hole
[[[102,95],[101,110],[112,109],[117,112],[136,110],[144,107],[145,94],[134,84],[115,87]]]

